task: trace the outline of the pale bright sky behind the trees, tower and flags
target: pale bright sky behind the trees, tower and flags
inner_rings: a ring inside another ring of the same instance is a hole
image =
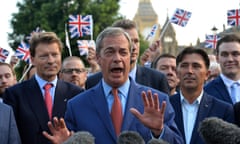
[[[8,45],[7,33],[12,32],[10,20],[12,13],[18,12],[17,1],[8,0],[0,5],[0,47],[11,49]],[[121,0],[120,11],[126,18],[133,19],[137,12],[139,0]],[[181,27],[173,24],[179,45],[196,44],[197,38],[205,40],[206,34],[212,34],[215,26],[218,32],[227,26],[227,10],[239,9],[240,0],[151,0],[153,8],[158,15],[159,24],[163,26],[167,15],[171,18],[176,8],[192,12],[186,25]]]

